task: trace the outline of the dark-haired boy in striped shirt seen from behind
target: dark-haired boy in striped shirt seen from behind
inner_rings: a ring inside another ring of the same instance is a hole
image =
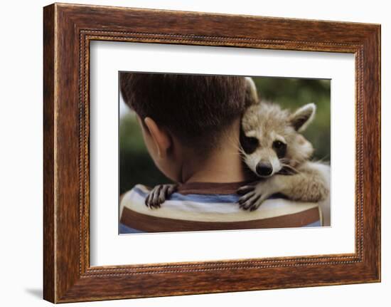
[[[119,232],[320,226],[318,204],[269,199],[255,212],[236,190],[255,181],[240,156],[240,119],[256,99],[245,78],[122,73],[124,101],[135,111],[156,167],[176,186],[159,209],[136,185],[120,201]]]

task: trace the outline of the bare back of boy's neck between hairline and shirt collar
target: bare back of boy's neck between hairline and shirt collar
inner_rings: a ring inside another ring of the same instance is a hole
[[[239,128],[237,128],[239,131]],[[236,134],[236,133],[235,133]],[[231,134],[208,157],[195,155],[182,168],[182,182],[242,182],[249,179],[240,157],[239,136]]]

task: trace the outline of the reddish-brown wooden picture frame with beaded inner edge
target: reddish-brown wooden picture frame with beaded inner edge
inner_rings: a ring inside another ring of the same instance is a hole
[[[63,303],[380,281],[380,25],[73,4],[45,6],[43,13],[45,300]],[[93,40],[354,53],[355,253],[90,266]]]

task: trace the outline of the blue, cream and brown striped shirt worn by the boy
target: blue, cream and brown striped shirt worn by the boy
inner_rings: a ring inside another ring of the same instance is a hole
[[[317,203],[270,197],[255,211],[240,209],[236,190],[248,182],[181,184],[159,209],[145,205],[149,187],[122,195],[119,234],[321,226]]]

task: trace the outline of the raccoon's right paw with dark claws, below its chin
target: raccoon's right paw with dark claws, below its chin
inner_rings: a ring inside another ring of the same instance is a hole
[[[257,185],[246,185],[245,187],[240,187],[237,189],[237,194],[243,195],[237,201],[239,207],[243,210],[254,211],[259,208],[259,206],[269,198],[270,194],[264,192],[262,187]]]

